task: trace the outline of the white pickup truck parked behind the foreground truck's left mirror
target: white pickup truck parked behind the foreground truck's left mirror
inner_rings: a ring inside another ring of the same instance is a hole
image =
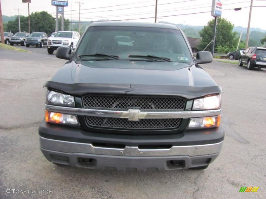
[[[73,49],[76,48],[78,40],[80,39],[80,34],[74,31],[59,31],[54,37],[48,39],[47,51],[48,54],[53,54],[60,46],[70,47],[71,53]]]

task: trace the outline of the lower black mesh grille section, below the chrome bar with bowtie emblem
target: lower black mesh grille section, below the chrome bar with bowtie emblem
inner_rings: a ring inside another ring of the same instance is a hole
[[[128,130],[176,129],[181,122],[181,119],[140,119],[139,121],[129,121],[124,118],[104,118],[95,116],[85,116],[85,118],[89,127]]]

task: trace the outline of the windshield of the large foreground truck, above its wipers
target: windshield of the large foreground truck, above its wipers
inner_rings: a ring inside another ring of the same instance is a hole
[[[121,42],[131,42],[124,45]],[[86,54],[117,55],[120,59],[151,60],[145,56],[170,59],[172,62],[191,63],[192,56],[179,30],[148,27],[99,26],[90,27],[76,50],[78,56]],[[141,55],[136,57],[129,55]],[[87,57],[82,57],[87,59]],[[158,61],[158,60],[157,60]]]

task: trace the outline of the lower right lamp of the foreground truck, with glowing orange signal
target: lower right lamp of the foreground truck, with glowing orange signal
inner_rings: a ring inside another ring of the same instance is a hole
[[[221,115],[206,118],[191,118],[188,128],[212,128],[220,126]]]

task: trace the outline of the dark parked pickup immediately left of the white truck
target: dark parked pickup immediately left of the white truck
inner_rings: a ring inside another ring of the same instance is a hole
[[[33,32],[26,38],[26,47],[43,47],[43,45],[47,45],[47,41],[48,37],[45,32]]]

